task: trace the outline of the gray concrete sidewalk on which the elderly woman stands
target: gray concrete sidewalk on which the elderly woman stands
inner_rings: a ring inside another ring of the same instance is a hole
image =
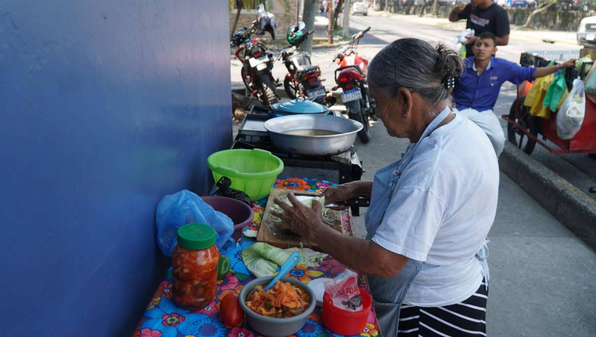
[[[387,135],[382,123],[372,140],[356,139],[364,180],[399,158],[407,139]],[[363,238],[364,214],[354,217]],[[496,218],[489,233],[488,336],[590,336],[596,321],[596,254],[501,173]]]

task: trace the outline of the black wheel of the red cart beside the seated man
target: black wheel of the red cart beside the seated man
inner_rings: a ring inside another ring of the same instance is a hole
[[[520,96],[513,101],[509,110],[509,119],[536,136],[538,135],[539,118],[530,116],[530,108],[523,105],[524,99],[526,99],[526,96]],[[532,141],[522,130],[510,123],[507,123],[507,139],[527,154],[532,154],[536,146],[535,141]]]

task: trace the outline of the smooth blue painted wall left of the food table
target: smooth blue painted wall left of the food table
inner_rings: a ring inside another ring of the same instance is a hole
[[[130,335],[231,142],[228,1],[0,5],[0,336]]]

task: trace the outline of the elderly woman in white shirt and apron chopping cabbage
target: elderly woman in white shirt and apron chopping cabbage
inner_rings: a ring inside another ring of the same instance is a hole
[[[368,275],[387,336],[486,335],[485,238],[495,218],[499,169],[482,130],[449,108],[461,72],[455,52],[418,39],[396,40],[371,62],[377,114],[390,136],[410,144],[373,182],[323,193],[327,202],[371,197],[366,239],[325,226],[316,202],[311,209],[293,195],[293,207],[276,201],[285,229]]]

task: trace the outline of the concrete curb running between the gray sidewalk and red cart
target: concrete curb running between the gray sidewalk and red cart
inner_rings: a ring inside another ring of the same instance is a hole
[[[592,249],[596,249],[596,201],[510,142],[499,169]]]

